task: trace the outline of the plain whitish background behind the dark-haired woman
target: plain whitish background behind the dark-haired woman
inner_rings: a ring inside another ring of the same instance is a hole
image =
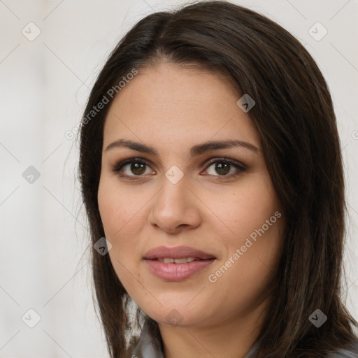
[[[343,298],[358,319],[358,2],[233,2],[299,38],[329,84],[349,204]],[[92,304],[78,145],[64,133],[117,41],[145,15],[182,3],[0,0],[0,358],[108,357]],[[29,22],[41,29],[34,41],[22,34]],[[316,22],[328,30],[320,41],[308,33]],[[22,176],[29,166],[40,173],[32,184]],[[32,329],[21,318],[30,308],[41,316]]]

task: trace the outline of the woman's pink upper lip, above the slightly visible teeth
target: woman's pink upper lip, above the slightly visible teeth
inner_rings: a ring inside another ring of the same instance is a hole
[[[197,250],[194,248],[189,248],[189,246],[174,246],[168,248],[166,246],[158,246],[149,250],[145,255],[144,259],[183,259],[184,257],[194,257],[196,259],[215,259],[213,255]]]

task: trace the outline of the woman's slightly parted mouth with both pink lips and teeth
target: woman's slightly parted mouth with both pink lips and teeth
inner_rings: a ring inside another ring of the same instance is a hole
[[[157,278],[182,281],[208,268],[216,257],[187,246],[160,246],[148,251],[143,259]]]

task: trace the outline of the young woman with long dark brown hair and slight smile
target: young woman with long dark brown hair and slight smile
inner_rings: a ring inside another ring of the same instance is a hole
[[[138,22],[90,94],[80,180],[111,357],[358,357],[331,96],[275,22],[223,1]]]

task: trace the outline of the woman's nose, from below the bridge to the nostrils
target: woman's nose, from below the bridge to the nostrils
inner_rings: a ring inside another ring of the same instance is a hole
[[[194,229],[201,222],[201,201],[188,187],[185,176],[176,184],[164,177],[162,189],[151,202],[150,225],[169,234]]]

